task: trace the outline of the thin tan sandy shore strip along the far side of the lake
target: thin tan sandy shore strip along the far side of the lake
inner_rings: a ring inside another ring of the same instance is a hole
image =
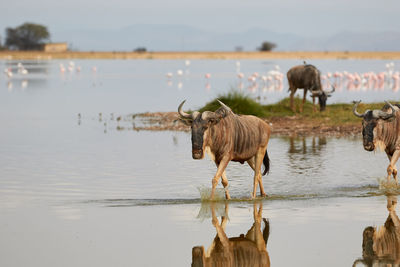
[[[348,52],[40,52],[0,51],[0,59],[400,59],[400,51]]]

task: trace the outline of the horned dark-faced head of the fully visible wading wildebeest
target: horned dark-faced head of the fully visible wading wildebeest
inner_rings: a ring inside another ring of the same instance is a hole
[[[178,113],[180,119],[192,128],[192,157],[193,159],[204,158],[205,144],[209,135],[209,128],[219,123],[219,121],[226,117],[232,110],[224,103],[218,100],[221,104],[221,108],[212,111],[204,111],[202,113],[194,111],[191,114],[182,111],[182,106],[185,103],[184,100],[178,107]]]

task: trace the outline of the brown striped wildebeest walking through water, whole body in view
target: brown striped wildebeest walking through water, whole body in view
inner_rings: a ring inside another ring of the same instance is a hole
[[[186,100],[185,100],[186,101]],[[271,127],[268,123],[251,115],[237,115],[218,100],[221,107],[215,112],[195,111],[188,114],[182,111],[183,101],[178,107],[181,120],[191,126],[192,130],[192,157],[202,159],[204,151],[217,165],[217,173],[212,179],[211,200],[214,198],[218,180],[222,177],[225,196],[230,199],[227,190],[228,179],[225,168],[230,161],[244,163],[245,161],[254,170],[254,187],[252,197],[256,197],[257,185],[260,193],[266,196],[261,177],[261,165],[264,163],[263,175],[269,171],[269,157],[267,153]]]

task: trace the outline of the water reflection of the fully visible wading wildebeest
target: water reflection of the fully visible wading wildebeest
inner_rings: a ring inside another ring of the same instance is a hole
[[[208,266],[270,266],[269,254],[266,245],[269,237],[269,221],[262,218],[262,203],[253,205],[254,223],[246,235],[229,238],[225,233],[228,221],[228,203],[225,203],[225,215],[221,216],[221,223],[215,213],[215,203],[210,203],[212,224],[217,235],[207,251],[204,246],[192,249],[192,267]],[[261,221],[265,227],[261,232]]]

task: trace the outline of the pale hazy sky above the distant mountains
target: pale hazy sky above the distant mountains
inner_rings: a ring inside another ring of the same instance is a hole
[[[254,27],[303,36],[400,31],[400,0],[0,0],[0,36],[26,21],[50,33],[181,24],[215,32]]]

